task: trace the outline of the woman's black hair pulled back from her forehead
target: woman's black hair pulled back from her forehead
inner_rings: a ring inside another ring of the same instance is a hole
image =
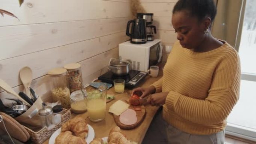
[[[209,16],[211,21],[217,12],[213,0],[179,0],[173,8],[173,14],[181,10],[188,10],[191,16],[196,16],[199,20]]]

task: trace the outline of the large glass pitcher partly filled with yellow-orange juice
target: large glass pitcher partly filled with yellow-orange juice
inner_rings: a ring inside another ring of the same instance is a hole
[[[87,111],[92,122],[99,122],[106,115],[107,85],[100,84],[97,89],[86,88]]]

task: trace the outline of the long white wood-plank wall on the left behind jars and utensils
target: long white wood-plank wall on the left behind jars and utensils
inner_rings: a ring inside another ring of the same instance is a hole
[[[22,91],[19,70],[33,71],[31,87],[45,101],[52,89],[47,72],[68,63],[82,64],[83,82],[107,71],[131,19],[129,0],[2,0],[0,9],[18,19],[0,17],[0,79]],[[0,89],[0,98],[11,95]]]

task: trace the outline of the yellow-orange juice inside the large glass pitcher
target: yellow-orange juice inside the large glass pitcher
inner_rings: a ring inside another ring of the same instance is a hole
[[[104,99],[91,99],[87,103],[87,111],[91,121],[101,121],[105,118],[106,102]]]

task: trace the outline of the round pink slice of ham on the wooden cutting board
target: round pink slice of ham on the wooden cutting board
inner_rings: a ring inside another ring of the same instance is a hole
[[[133,125],[137,122],[136,111],[128,108],[119,117],[119,121],[124,125]]]

